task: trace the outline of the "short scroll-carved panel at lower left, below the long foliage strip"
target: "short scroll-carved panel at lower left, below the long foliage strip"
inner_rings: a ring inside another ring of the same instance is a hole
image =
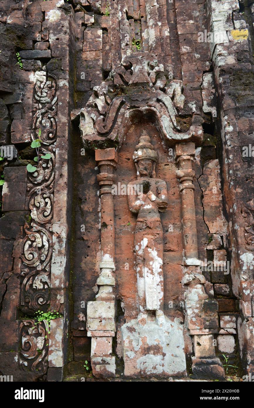
[[[23,320],[20,323],[20,364],[30,370],[45,373],[48,362],[48,345],[45,339],[48,322],[43,320],[35,324],[34,320]]]

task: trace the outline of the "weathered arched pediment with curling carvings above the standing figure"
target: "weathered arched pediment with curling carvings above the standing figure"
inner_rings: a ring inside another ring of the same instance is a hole
[[[79,112],[80,129],[87,147],[121,146],[135,116],[150,115],[166,144],[202,140],[202,119],[195,103],[184,103],[183,84],[167,80],[162,64],[147,52],[125,57],[107,80],[94,86]],[[188,116],[189,127],[178,122]],[[75,115],[74,115],[75,117]]]

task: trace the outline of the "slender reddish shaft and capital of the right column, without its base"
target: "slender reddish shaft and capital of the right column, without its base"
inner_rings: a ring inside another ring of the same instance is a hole
[[[192,142],[175,145],[175,156],[179,170],[176,172],[180,181],[182,197],[182,226],[184,235],[184,253],[186,265],[200,265],[197,250],[197,226],[194,202],[195,175],[192,170],[195,144]]]

